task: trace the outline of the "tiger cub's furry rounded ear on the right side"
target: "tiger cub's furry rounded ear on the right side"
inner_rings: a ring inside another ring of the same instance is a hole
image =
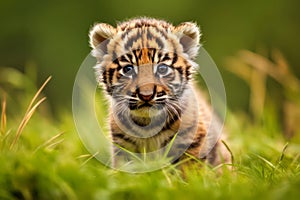
[[[184,22],[174,28],[174,33],[183,47],[183,52],[194,60],[200,47],[199,27],[192,22]]]

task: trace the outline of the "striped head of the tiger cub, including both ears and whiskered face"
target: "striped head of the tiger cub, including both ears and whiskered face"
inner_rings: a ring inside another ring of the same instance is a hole
[[[178,101],[195,65],[199,40],[194,23],[173,26],[151,18],[116,27],[100,23],[90,31],[99,82],[119,109],[133,116],[149,115],[151,108],[158,111],[154,115],[164,111],[180,117]]]

